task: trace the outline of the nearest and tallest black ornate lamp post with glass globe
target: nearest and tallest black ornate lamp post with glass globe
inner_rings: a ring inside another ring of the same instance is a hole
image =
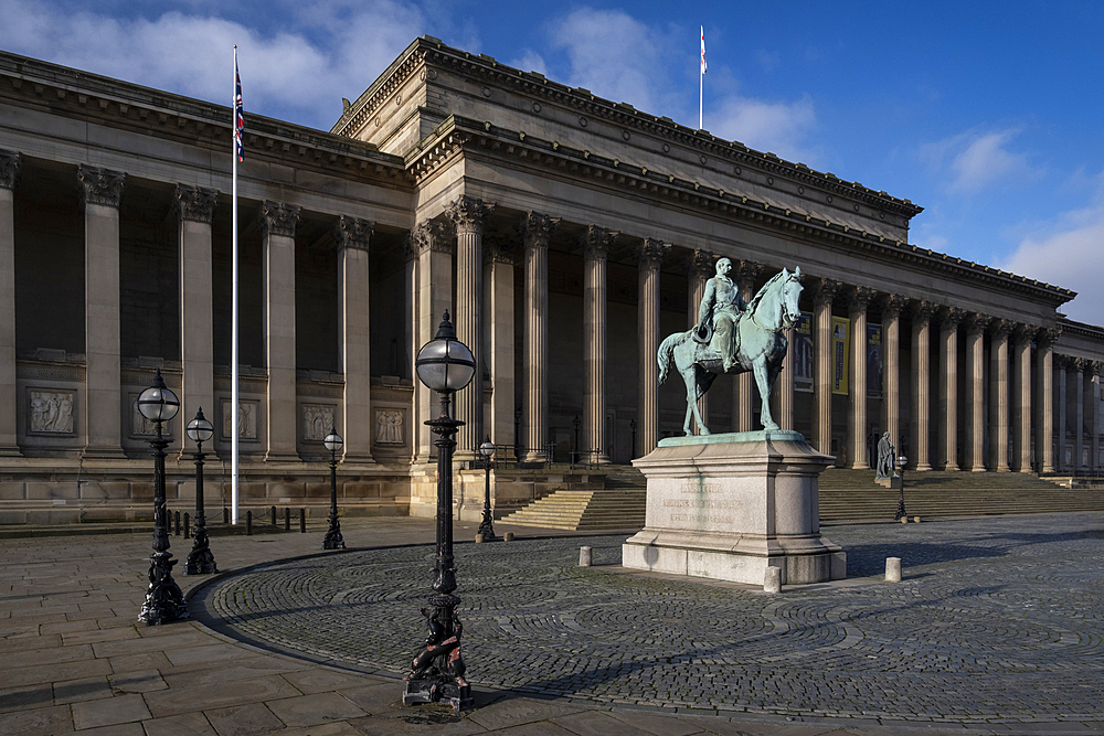
[[[456,339],[448,312],[433,340],[422,345],[414,361],[418,381],[440,396],[440,416],[426,424],[440,439],[437,447],[437,579],[429,605],[421,609],[429,626],[429,636],[414,657],[411,671],[403,678],[406,690],[403,705],[415,703],[449,703],[454,708],[470,707],[471,686],[464,679],[460,659],[460,633],[464,627],[455,609],[460,599],[456,590],[456,568],[453,567],[453,436],[464,425],[449,416],[452,395],[464,388],[476,372],[471,351]]]

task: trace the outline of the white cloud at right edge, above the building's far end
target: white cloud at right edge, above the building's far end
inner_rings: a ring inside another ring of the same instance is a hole
[[[1104,173],[1095,184],[1089,205],[1036,227],[1000,268],[1073,289],[1078,298],[1062,311],[1071,319],[1104,326],[1100,278],[1104,274]]]

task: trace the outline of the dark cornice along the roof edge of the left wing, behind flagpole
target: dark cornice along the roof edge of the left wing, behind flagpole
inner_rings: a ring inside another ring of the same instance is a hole
[[[232,108],[49,62],[0,52],[0,103],[102,122],[189,146],[229,152]],[[245,110],[244,174],[250,162],[296,159],[296,166],[408,185],[401,157],[375,146]],[[230,159],[229,154],[226,157]],[[229,167],[229,163],[227,163]]]

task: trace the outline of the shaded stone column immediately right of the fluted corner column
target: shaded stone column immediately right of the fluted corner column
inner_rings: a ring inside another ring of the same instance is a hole
[[[493,392],[490,399],[490,438],[496,445],[513,446],[514,355],[513,266],[514,252],[509,243],[488,243],[484,256],[484,363],[490,366]],[[505,460],[516,460],[511,451]]]

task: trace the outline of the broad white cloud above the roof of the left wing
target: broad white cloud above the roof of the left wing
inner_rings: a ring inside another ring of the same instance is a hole
[[[283,0],[268,12],[301,23],[287,24],[294,33],[264,34],[202,11],[115,19],[0,0],[0,47],[229,104],[236,43],[247,113],[328,128],[340,116],[341,97],[363,92],[426,25],[423,13],[402,0],[333,0],[309,8]]]

